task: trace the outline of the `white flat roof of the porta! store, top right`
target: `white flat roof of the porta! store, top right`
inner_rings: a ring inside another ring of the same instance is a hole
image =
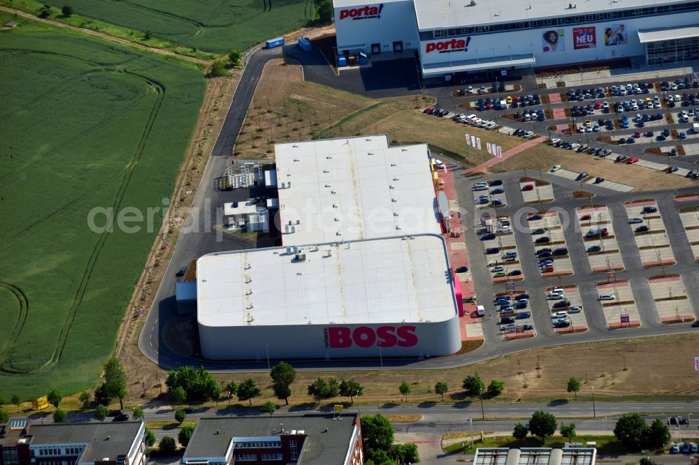
[[[683,0],[475,0],[475,5],[470,6],[470,0],[414,1],[420,31],[683,3]],[[568,8],[570,3],[575,8]]]

